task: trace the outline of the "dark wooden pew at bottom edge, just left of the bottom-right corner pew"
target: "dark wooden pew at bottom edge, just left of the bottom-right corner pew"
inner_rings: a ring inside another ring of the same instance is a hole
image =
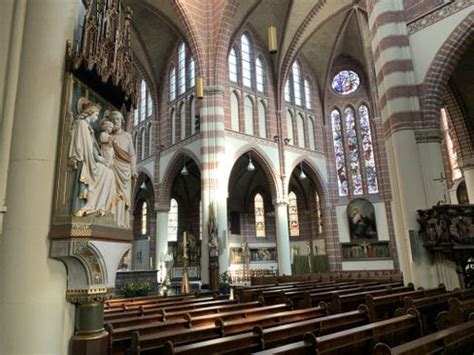
[[[376,342],[385,342],[390,346],[395,346],[421,335],[418,312],[410,310],[403,316],[320,337],[306,333],[303,341],[255,354],[371,354],[373,344]]]

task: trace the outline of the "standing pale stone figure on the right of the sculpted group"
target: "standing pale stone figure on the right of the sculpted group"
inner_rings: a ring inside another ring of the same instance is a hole
[[[135,149],[132,136],[123,129],[125,120],[119,111],[112,111],[109,120],[114,124],[113,148],[117,204],[114,214],[118,227],[130,228],[132,180],[137,177]]]

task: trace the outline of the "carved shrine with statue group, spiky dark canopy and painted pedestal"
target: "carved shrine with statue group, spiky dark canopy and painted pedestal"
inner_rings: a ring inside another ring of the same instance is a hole
[[[79,36],[66,46],[49,236],[51,257],[67,266],[66,298],[76,305],[74,354],[106,353],[103,301],[133,239],[135,152],[125,130],[137,101],[130,28],[131,11],[120,0],[89,0]]]

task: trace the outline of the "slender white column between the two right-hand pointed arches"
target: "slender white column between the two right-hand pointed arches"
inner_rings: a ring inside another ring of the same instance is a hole
[[[275,203],[275,222],[278,250],[278,274],[291,275],[290,232],[288,229],[288,203]]]

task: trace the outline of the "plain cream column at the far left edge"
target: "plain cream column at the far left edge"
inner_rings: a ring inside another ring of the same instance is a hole
[[[14,112],[8,213],[0,240],[3,354],[69,352],[74,307],[65,298],[65,267],[49,258],[48,232],[66,40],[72,39],[78,6],[73,0],[28,1],[23,39],[18,39],[18,87],[9,101],[14,110],[8,108]]]

